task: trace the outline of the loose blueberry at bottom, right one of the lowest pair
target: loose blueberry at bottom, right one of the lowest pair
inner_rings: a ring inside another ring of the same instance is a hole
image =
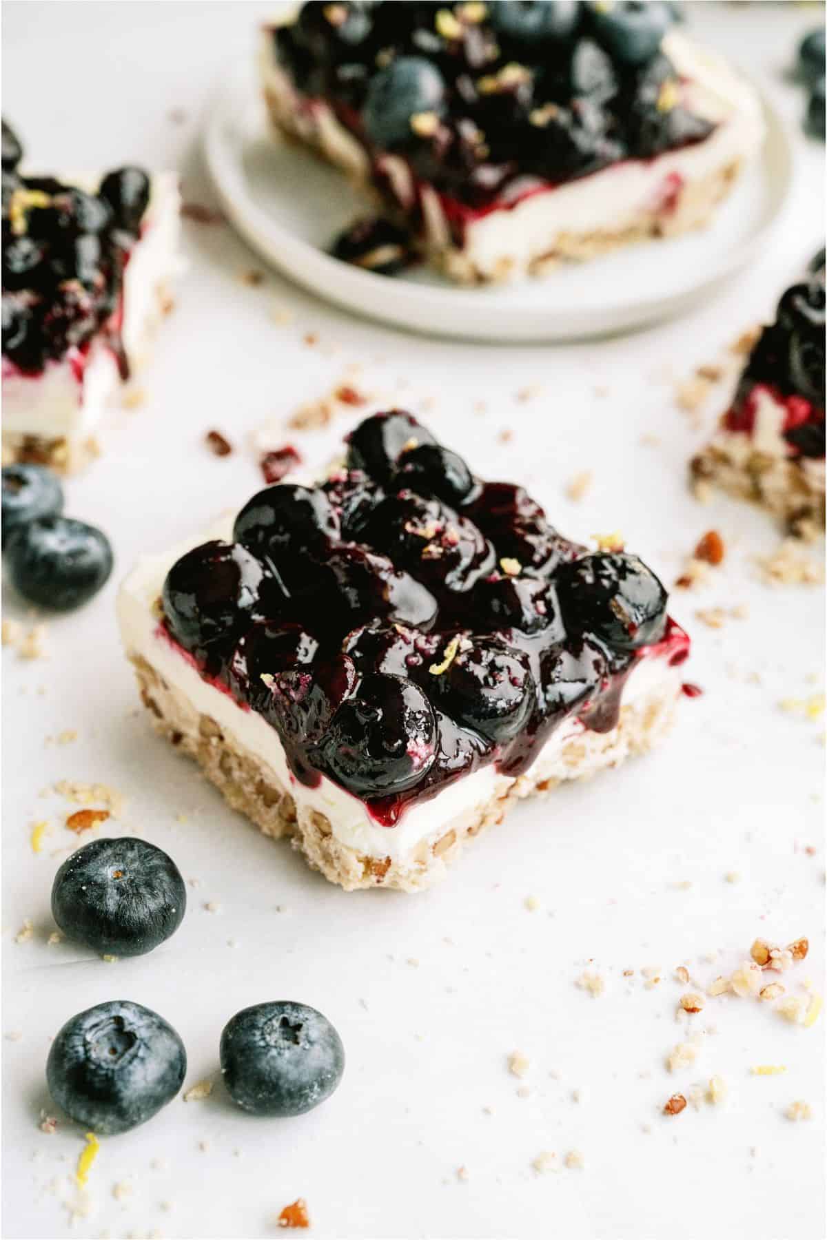
[[[330,1021],[306,1003],[257,1003],[221,1034],[221,1070],[233,1102],[250,1115],[304,1115],[334,1092],[345,1048]]]

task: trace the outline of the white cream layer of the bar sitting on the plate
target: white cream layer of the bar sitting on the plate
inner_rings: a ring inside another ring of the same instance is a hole
[[[500,207],[465,228],[462,254],[480,272],[495,274],[505,260],[524,270],[560,234],[619,233],[658,212],[671,181],[691,186],[738,160],[751,159],[764,138],[758,95],[720,57],[696,46],[684,35],[670,33],[663,51],[688,79],[687,107],[717,129],[705,141],[650,160],[625,160],[600,172],[536,193],[515,207]],[[327,157],[365,179],[369,165],[361,144],[320,100],[304,100],[279,66],[272,40],[263,36],[260,73],[269,99],[306,141],[317,143]],[[383,167],[403,208],[412,205],[413,180],[403,159],[383,156]],[[676,203],[676,210],[679,206]],[[449,228],[439,196],[425,187],[423,212],[428,239],[449,244]],[[666,213],[666,212],[665,212]]]

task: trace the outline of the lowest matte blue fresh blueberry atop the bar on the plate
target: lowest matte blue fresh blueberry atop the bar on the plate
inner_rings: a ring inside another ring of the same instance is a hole
[[[381,69],[368,87],[362,123],[374,146],[392,149],[415,140],[412,117],[441,115],[445,83],[439,69],[422,56],[399,56]]]

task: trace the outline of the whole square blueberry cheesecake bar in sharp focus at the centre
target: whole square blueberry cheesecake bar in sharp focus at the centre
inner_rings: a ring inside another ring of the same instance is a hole
[[[532,792],[667,730],[689,640],[635,556],[557,533],[410,414],[119,595],[155,725],[347,890],[417,890]]]

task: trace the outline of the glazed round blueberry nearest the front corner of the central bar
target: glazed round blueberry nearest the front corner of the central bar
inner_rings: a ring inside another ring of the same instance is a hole
[[[423,691],[402,676],[366,676],[334,715],[321,754],[334,777],[361,797],[403,792],[436,756],[436,718]]]

